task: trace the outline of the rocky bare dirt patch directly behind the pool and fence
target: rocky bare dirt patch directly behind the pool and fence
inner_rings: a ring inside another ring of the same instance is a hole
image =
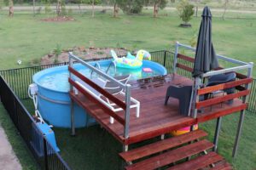
[[[42,57],[41,65],[49,65],[54,63],[61,63],[68,61],[68,52],[71,51],[73,54],[79,56],[81,59],[102,59],[111,57],[110,50],[113,49],[118,55],[127,54],[126,48],[84,48],[75,47],[66,50],[62,50],[61,54],[55,55],[50,53]]]

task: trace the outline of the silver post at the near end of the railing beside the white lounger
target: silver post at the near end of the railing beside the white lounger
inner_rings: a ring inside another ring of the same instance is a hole
[[[131,85],[127,84],[125,88],[125,139],[129,138],[129,125],[130,125],[130,105],[131,105]]]

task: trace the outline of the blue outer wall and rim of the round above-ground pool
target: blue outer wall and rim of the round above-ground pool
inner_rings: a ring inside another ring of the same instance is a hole
[[[90,65],[99,63],[103,66],[109,65],[111,62],[111,59],[100,60],[90,62]],[[162,75],[167,74],[166,68],[163,65],[153,61],[144,60],[143,67],[147,67],[147,65],[150,65],[151,68],[160,71]],[[80,69],[84,69],[84,65],[75,64],[74,68],[79,71]],[[38,84],[38,110],[40,111],[44,120],[49,122],[49,124],[55,127],[71,127],[70,97],[68,92],[45,88],[39,83],[39,79],[41,77],[50,75],[56,71],[67,71],[67,65],[39,71],[32,77],[33,82]],[[79,105],[74,105],[74,114],[75,127],[86,127],[95,123],[95,120],[88,116],[84,109],[82,109]]]

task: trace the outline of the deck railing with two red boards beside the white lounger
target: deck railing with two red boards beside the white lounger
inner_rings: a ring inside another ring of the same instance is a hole
[[[100,77],[103,77],[107,81],[115,82],[117,85],[119,85],[120,88],[123,88],[125,90],[125,103],[118,99],[117,97],[113,96],[113,94],[109,94],[105,89],[97,85],[95,82],[92,82],[90,78],[84,77],[79,71],[76,71],[73,68],[73,62],[79,62],[80,64],[84,65],[84,67],[87,67],[90,69],[90,71],[96,72]],[[118,121],[120,124],[124,126],[124,138],[129,138],[129,123],[130,123],[130,105],[131,105],[131,85],[130,84],[124,84],[122,82],[119,82],[118,80],[114,79],[113,77],[108,76],[105,72],[97,69],[96,67],[88,64],[83,59],[79,59],[79,57],[73,55],[72,53],[69,53],[69,83],[70,83],[70,92],[73,92],[74,88],[77,88],[84,96],[86,96],[88,99],[99,105],[109,116],[112,116],[116,121]],[[79,83],[75,82],[73,80],[73,76],[78,77],[80,80],[88,84],[91,88],[94,88],[97,92],[102,94],[107,99],[111,100],[115,105],[118,105],[120,108],[122,108],[125,111],[125,119],[119,116],[118,114],[115,114],[108,105],[104,105],[104,102],[98,102],[98,98],[96,98],[94,95],[88,93],[84,88],[82,88]],[[73,105],[72,105],[73,107]],[[72,109],[72,115],[73,115],[73,109]],[[72,119],[73,120],[73,119]],[[72,122],[72,129],[74,134],[74,122]]]

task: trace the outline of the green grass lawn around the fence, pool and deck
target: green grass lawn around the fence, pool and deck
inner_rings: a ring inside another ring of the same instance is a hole
[[[250,16],[253,16],[251,14]],[[38,64],[45,54],[49,54],[57,44],[61,48],[74,46],[94,47],[125,47],[130,49],[145,48],[147,50],[174,49],[176,41],[189,44],[198,32],[201,18],[191,21],[192,28],[178,27],[180,20],[176,14],[162,12],[160,18],[154,19],[146,11],[139,16],[121,14],[114,19],[110,14],[90,14],[73,17],[73,22],[50,23],[28,14],[15,15],[10,19],[0,15],[0,70],[24,67]],[[256,20],[221,20],[213,18],[212,36],[218,54],[224,54],[234,59],[256,61]],[[22,65],[16,60],[21,59]],[[223,65],[226,65],[223,63]],[[253,72],[256,76],[256,72]],[[32,110],[32,108],[31,108]],[[224,118],[224,126],[219,143],[219,152],[232,162],[236,169],[256,168],[256,138],[253,127],[256,116],[248,113],[244,123],[240,148],[236,159],[231,158],[231,148],[236,134],[236,116]],[[26,146],[15,135],[15,127],[6,116],[3,106],[0,107],[0,123],[9,136],[22,166],[25,169],[35,169]],[[212,138],[215,122],[204,123],[202,128],[210,133]],[[68,129],[55,129],[61,156],[75,169],[118,169],[120,160],[117,153],[121,145],[100,127],[82,128],[78,136],[69,136]],[[103,167],[107,166],[107,167]]]

